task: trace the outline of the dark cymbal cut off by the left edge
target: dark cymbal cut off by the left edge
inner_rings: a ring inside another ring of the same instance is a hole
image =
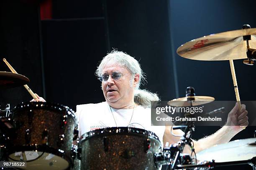
[[[24,75],[0,71],[0,89],[18,87],[28,83],[29,79]]]

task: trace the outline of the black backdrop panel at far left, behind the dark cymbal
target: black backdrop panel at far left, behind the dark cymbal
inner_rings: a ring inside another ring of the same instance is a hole
[[[3,62],[6,58],[19,74],[31,80],[29,87],[34,92],[44,94],[38,9],[36,2],[0,1],[0,70],[11,72]],[[7,103],[13,108],[29,100],[24,87],[0,89],[0,109]]]

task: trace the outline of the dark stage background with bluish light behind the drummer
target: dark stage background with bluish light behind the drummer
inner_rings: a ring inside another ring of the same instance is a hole
[[[41,18],[40,18],[41,3]],[[255,0],[3,0],[0,2],[0,56],[30,79],[48,102],[75,110],[104,100],[95,76],[99,61],[113,48],[140,61],[146,88],[161,100],[197,95],[236,100],[228,61],[179,57],[183,43],[212,33],[256,27]],[[44,12],[44,13],[43,13]],[[241,100],[256,100],[256,66],[234,61]],[[0,62],[1,71],[9,71]],[[23,87],[0,90],[1,107],[31,100]],[[197,128],[195,139],[219,127]],[[232,140],[253,137],[248,127]],[[246,168],[249,168],[247,166]]]

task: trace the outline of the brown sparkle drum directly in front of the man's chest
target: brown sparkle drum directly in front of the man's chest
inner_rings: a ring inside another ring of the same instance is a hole
[[[150,131],[116,127],[93,130],[78,144],[82,170],[156,170],[159,138]]]

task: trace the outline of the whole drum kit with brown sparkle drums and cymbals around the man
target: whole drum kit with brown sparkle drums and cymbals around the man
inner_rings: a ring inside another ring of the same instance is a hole
[[[191,40],[177,53],[192,60],[229,60],[236,99],[241,108],[235,59],[253,65],[256,60],[256,28],[243,25],[242,30],[222,32]],[[28,87],[29,79],[18,74],[4,59],[12,72],[0,72],[0,88]],[[189,107],[215,100],[195,96],[188,87],[186,97],[168,105]],[[39,170],[156,170],[166,165],[174,169],[210,169],[227,165],[249,164],[256,169],[256,138],[235,140],[195,153],[191,135],[193,122],[176,126],[184,135],[176,144],[161,149],[160,139],[153,132],[130,127],[92,130],[77,139],[77,123],[72,109],[49,102],[24,102],[10,110],[0,110],[0,161],[26,161],[26,168]],[[76,143],[74,143],[76,141]],[[195,160],[183,153],[185,145],[192,148]],[[201,160],[197,163],[197,160]],[[194,162],[195,161],[195,162]]]

